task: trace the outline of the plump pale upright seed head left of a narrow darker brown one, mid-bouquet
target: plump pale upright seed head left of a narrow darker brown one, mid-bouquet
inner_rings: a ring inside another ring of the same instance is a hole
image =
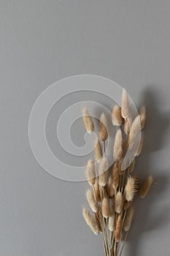
[[[98,184],[101,187],[106,186],[109,180],[109,163],[107,157],[102,157],[98,166]]]

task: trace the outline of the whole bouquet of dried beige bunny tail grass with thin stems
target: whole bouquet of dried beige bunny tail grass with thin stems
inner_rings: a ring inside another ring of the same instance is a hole
[[[92,134],[94,125],[87,108],[82,110],[82,119],[86,131]],[[133,120],[128,94],[123,89],[121,108],[115,105],[111,119],[113,126],[117,129],[112,150],[115,162],[110,171],[105,152],[105,142],[108,138],[107,117],[101,113],[98,138],[93,146],[94,160],[88,160],[85,170],[85,176],[90,185],[86,197],[91,212],[83,208],[82,215],[93,233],[101,234],[105,255],[120,256],[134,216],[132,206],[134,197],[136,194],[139,194],[141,198],[146,197],[153,177],[149,176],[139,187],[139,179],[133,174],[135,159],[125,170],[121,168],[125,153],[128,148],[133,150],[136,138],[144,128],[145,107],[139,110],[138,116]],[[138,149],[134,152],[135,157],[141,154],[142,146],[143,137],[141,137]]]

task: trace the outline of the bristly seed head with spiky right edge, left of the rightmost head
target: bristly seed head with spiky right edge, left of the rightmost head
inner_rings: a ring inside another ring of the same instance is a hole
[[[138,189],[138,184],[136,178],[129,176],[125,184],[125,200],[132,201],[134,200],[134,195]]]

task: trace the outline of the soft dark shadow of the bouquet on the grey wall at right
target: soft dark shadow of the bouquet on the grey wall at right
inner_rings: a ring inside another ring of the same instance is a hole
[[[162,113],[158,105],[159,94],[152,86],[147,87],[141,97],[141,104],[147,108],[147,123],[144,129],[144,148],[142,154],[136,159],[136,167],[134,172],[139,176],[139,180],[154,175],[151,154],[160,150],[165,146],[165,138],[169,132],[170,118],[169,113]],[[161,159],[160,159],[161,160]],[[162,201],[163,193],[169,187],[169,179],[166,176],[166,170],[156,170],[158,175],[154,177],[155,181],[152,185],[150,193],[142,200],[136,198],[134,203],[135,214],[132,222],[131,230],[127,239],[126,253],[129,256],[140,255],[140,241],[146,233],[157,230],[167,225],[169,220],[169,207],[159,208],[158,205]],[[159,208],[152,214],[152,208]]]

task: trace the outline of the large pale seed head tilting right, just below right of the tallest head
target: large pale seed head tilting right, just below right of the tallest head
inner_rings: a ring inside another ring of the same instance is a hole
[[[134,119],[132,125],[131,125],[131,130],[128,135],[128,147],[129,149],[133,148],[134,144],[136,143],[136,137],[139,135],[139,132],[141,131],[141,121],[140,121],[140,116],[136,116]]]

